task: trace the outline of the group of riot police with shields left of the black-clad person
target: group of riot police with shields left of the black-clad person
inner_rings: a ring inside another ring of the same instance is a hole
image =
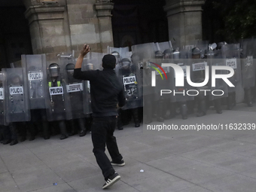
[[[89,60],[84,59],[85,66],[90,66]],[[85,136],[92,123],[90,84],[73,78],[74,57],[65,53],[22,55],[21,63],[21,68],[2,69],[0,74],[1,142],[16,145],[19,136],[20,142],[26,140],[27,131],[29,140],[39,131],[44,139],[58,132],[59,139],[78,132]]]

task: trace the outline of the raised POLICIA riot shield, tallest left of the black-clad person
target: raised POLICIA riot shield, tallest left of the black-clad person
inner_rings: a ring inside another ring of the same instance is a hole
[[[30,109],[45,108],[45,86],[47,86],[46,56],[22,55],[22,67],[28,79]]]

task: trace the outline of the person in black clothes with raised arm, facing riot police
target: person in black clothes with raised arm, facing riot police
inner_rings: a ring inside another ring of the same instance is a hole
[[[91,106],[93,111],[93,125],[91,127],[93,153],[96,161],[102,169],[105,178],[103,189],[110,187],[120,179],[120,175],[114,171],[113,166],[124,166],[122,155],[117,147],[114,137],[114,129],[117,121],[117,108],[125,105],[123,87],[114,72],[116,59],[113,55],[105,55],[102,58],[103,70],[81,72],[84,56],[90,52],[90,47],[84,44],[78,60],[75,64],[73,77],[90,81]],[[112,161],[105,154],[105,145]]]

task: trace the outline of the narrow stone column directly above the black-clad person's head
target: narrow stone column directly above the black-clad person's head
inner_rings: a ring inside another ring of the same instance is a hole
[[[114,46],[111,23],[111,10],[114,8],[114,3],[110,1],[98,1],[95,4],[95,8],[99,20],[99,38],[102,52],[106,53],[108,46]]]

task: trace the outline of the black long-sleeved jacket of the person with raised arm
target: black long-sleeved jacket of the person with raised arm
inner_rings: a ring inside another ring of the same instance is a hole
[[[125,105],[123,87],[113,69],[81,72],[74,70],[74,78],[90,81],[90,96],[93,117],[117,115],[117,103]]]

